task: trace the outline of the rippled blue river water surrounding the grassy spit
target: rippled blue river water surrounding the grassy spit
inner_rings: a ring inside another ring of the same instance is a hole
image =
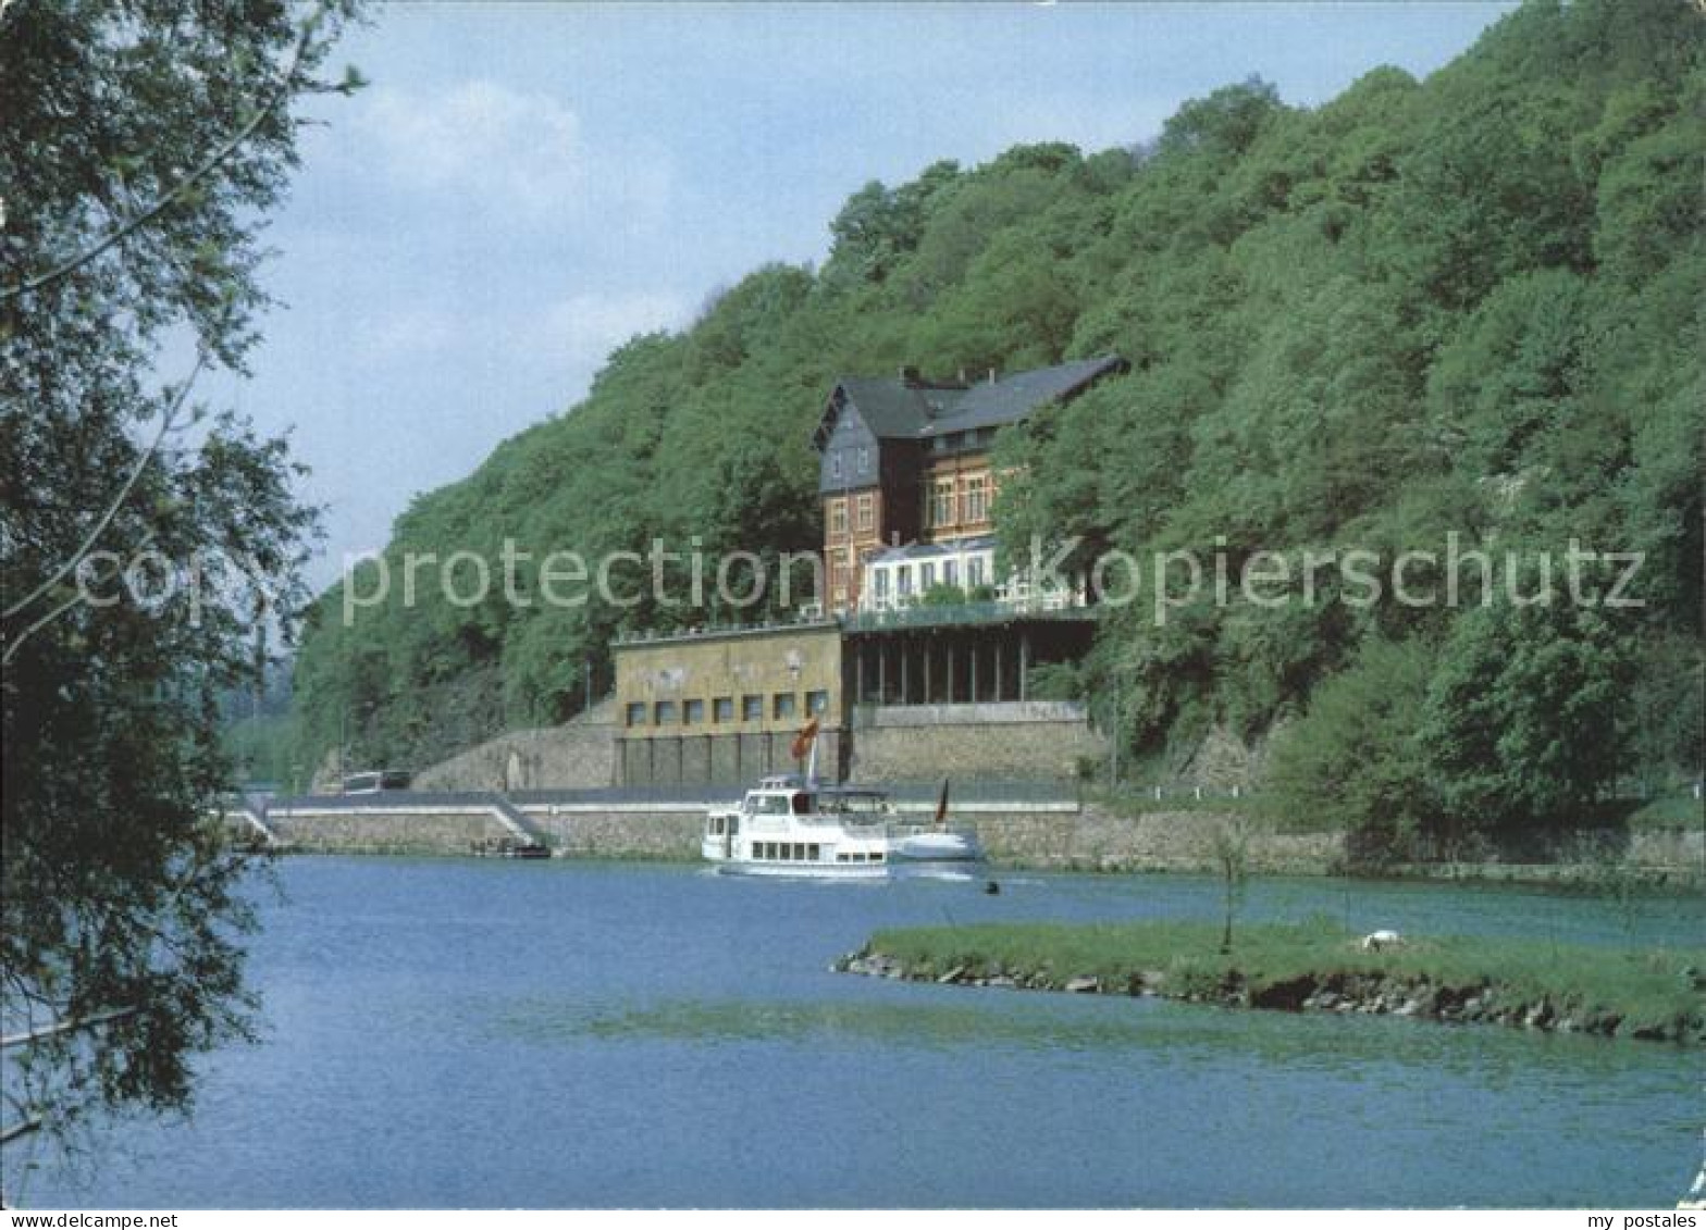
[[[9,1150],[34,1206],[1665,1206],[1699,1051],[829,972],[880,926],[1216,918],[1198,877],[751,882],[693,867],[280,865],[264,1041],[196,1114]],[[1245,918],[1622,942],[1530,889],[1256,880]],[[1645,942],[1697,943],[1692,899]]]

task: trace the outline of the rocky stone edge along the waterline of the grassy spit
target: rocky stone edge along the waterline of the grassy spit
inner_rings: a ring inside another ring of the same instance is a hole
[[[931,966],[908,966],[899,957],[862,949],[831,967],[843,974],[887,978],[945,986],[986,986],[1012,991],[1065,991],[1071,995],[1126,995],[1211,1003],[1223,1008],[1268,1012],[1320,1012],[1338,1015],[1387,1015],[1459,1025],[1506,1025],[1549,1034],[1593,1034],[1651,1042],[1706,1046],[1706,1017],[1668,1025],[1639,1025],[1609,1010],[1581,1012],[1551,996],[1529,998],[1498,983],[1450,984],[1414,974],[1329,971],[1281,981],[1259,981],[1232,969],[1216,983],[1174,981],[1165,971],[1150,969],[1117,981],[1095,974],[1059,974],[1051,969],[1007,969],[955,966],[937,972]]]

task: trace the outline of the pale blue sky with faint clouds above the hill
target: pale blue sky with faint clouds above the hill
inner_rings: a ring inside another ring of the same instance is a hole
[[[1018,142],[1100,150],[1259,73],[1319,104],[1425,75],[1510,5],[380,3],[338,49],[270,244],[254,379],[326,507],[316,583],[420,493],[561,413],[633,333],[821,261],[870,179]]]

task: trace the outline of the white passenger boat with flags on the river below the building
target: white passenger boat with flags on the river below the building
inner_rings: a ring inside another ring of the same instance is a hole
[[[739,805],[713,807],[701,853],[727,875],[880,880],[983,862],[971,833],[901,822],[880,790],[764,778]]]

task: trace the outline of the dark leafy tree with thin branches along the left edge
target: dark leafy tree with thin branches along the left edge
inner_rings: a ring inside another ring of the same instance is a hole
[[[0,7],[0,1018],[68,1027],[9,1051],[7,1131],[183,1105],[191,1054],[247,1029],[218,708],[310,517],[283,444],[191,386],[256,338],[259,229],[346,17]],[[183,339],[200,362],[162,372]]]

